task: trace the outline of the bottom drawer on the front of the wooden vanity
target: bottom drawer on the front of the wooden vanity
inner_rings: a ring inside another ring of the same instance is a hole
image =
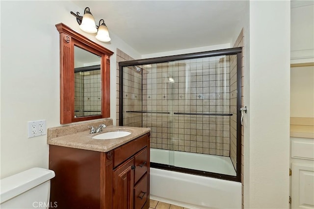
[[[134,209],[141,209],[147,200],[147,174],[134,186]]]

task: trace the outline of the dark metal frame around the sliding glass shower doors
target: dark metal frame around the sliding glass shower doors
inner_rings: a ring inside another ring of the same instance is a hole
[[[171,55],[171,56],[164,56],[164,57],[154,57],[154,58],[147,58],[147,59],[139,59],[139,60],[131,60],[131,61],[124,61],[119,62],[119,125],[123,126],[123,67],[130,67],[130,66],[138,66],[138,65],[147,65],[147,64],[155,64],[155,63],[164,63],[164,62],[171,62],[177,60],[186,60],[186,59],[196,59],[196,58],[204,58],[204,57],[213,57],[213,56],[221,56],[221,55],[236,55],[236,86],[237,86],[237,97],[236,97],[236,175],[226,175],[226,174],[219,174],[219,173],[212,173],[207,171],[201,170],[193,170],[188,168],[181,168],[175,166],[169,166],[159,163],[151,163],[151,167],[166,169],[166,170],[173,170],[183,173],[190,173],[196,174],[201,176],[225,179],[235,182],[241,182],[241,67],[242,67],[242,47],[234,47],[234,48],[225,48],[225,49],[218,49],[212,51],[203,51],[203,52],[195,52],[195,53],[188,53],[188,54],[179,54],[179,55]]]

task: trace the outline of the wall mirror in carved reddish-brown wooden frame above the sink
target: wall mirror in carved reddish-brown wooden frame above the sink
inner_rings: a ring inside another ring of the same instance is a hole
[[[63,23],[60,34],[60,123],[110,117],[110,56]]]

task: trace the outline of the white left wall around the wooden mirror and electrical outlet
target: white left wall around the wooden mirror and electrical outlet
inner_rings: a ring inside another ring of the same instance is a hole
[[[65,23],[113,52],[118,47],[140,58],[110,28],[111,43],[98,42],[94,35],[80,31],[70,11],[82,13],[83,8],[72,1],[1,1],[0,178],[34,166],[48,168],[47,135],[27,139],[27,121],[46,119],[47,128],[60,126],[59,33],[55,24]],[[111,56],[110,71],[110,109],[114,118],[115,54]]]

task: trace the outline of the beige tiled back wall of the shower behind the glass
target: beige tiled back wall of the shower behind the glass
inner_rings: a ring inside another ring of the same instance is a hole
[[[230,155],[230,116],[174,113],[230,113],[229,56],[152,64],[143,70],[143,127],[151,147]]]

